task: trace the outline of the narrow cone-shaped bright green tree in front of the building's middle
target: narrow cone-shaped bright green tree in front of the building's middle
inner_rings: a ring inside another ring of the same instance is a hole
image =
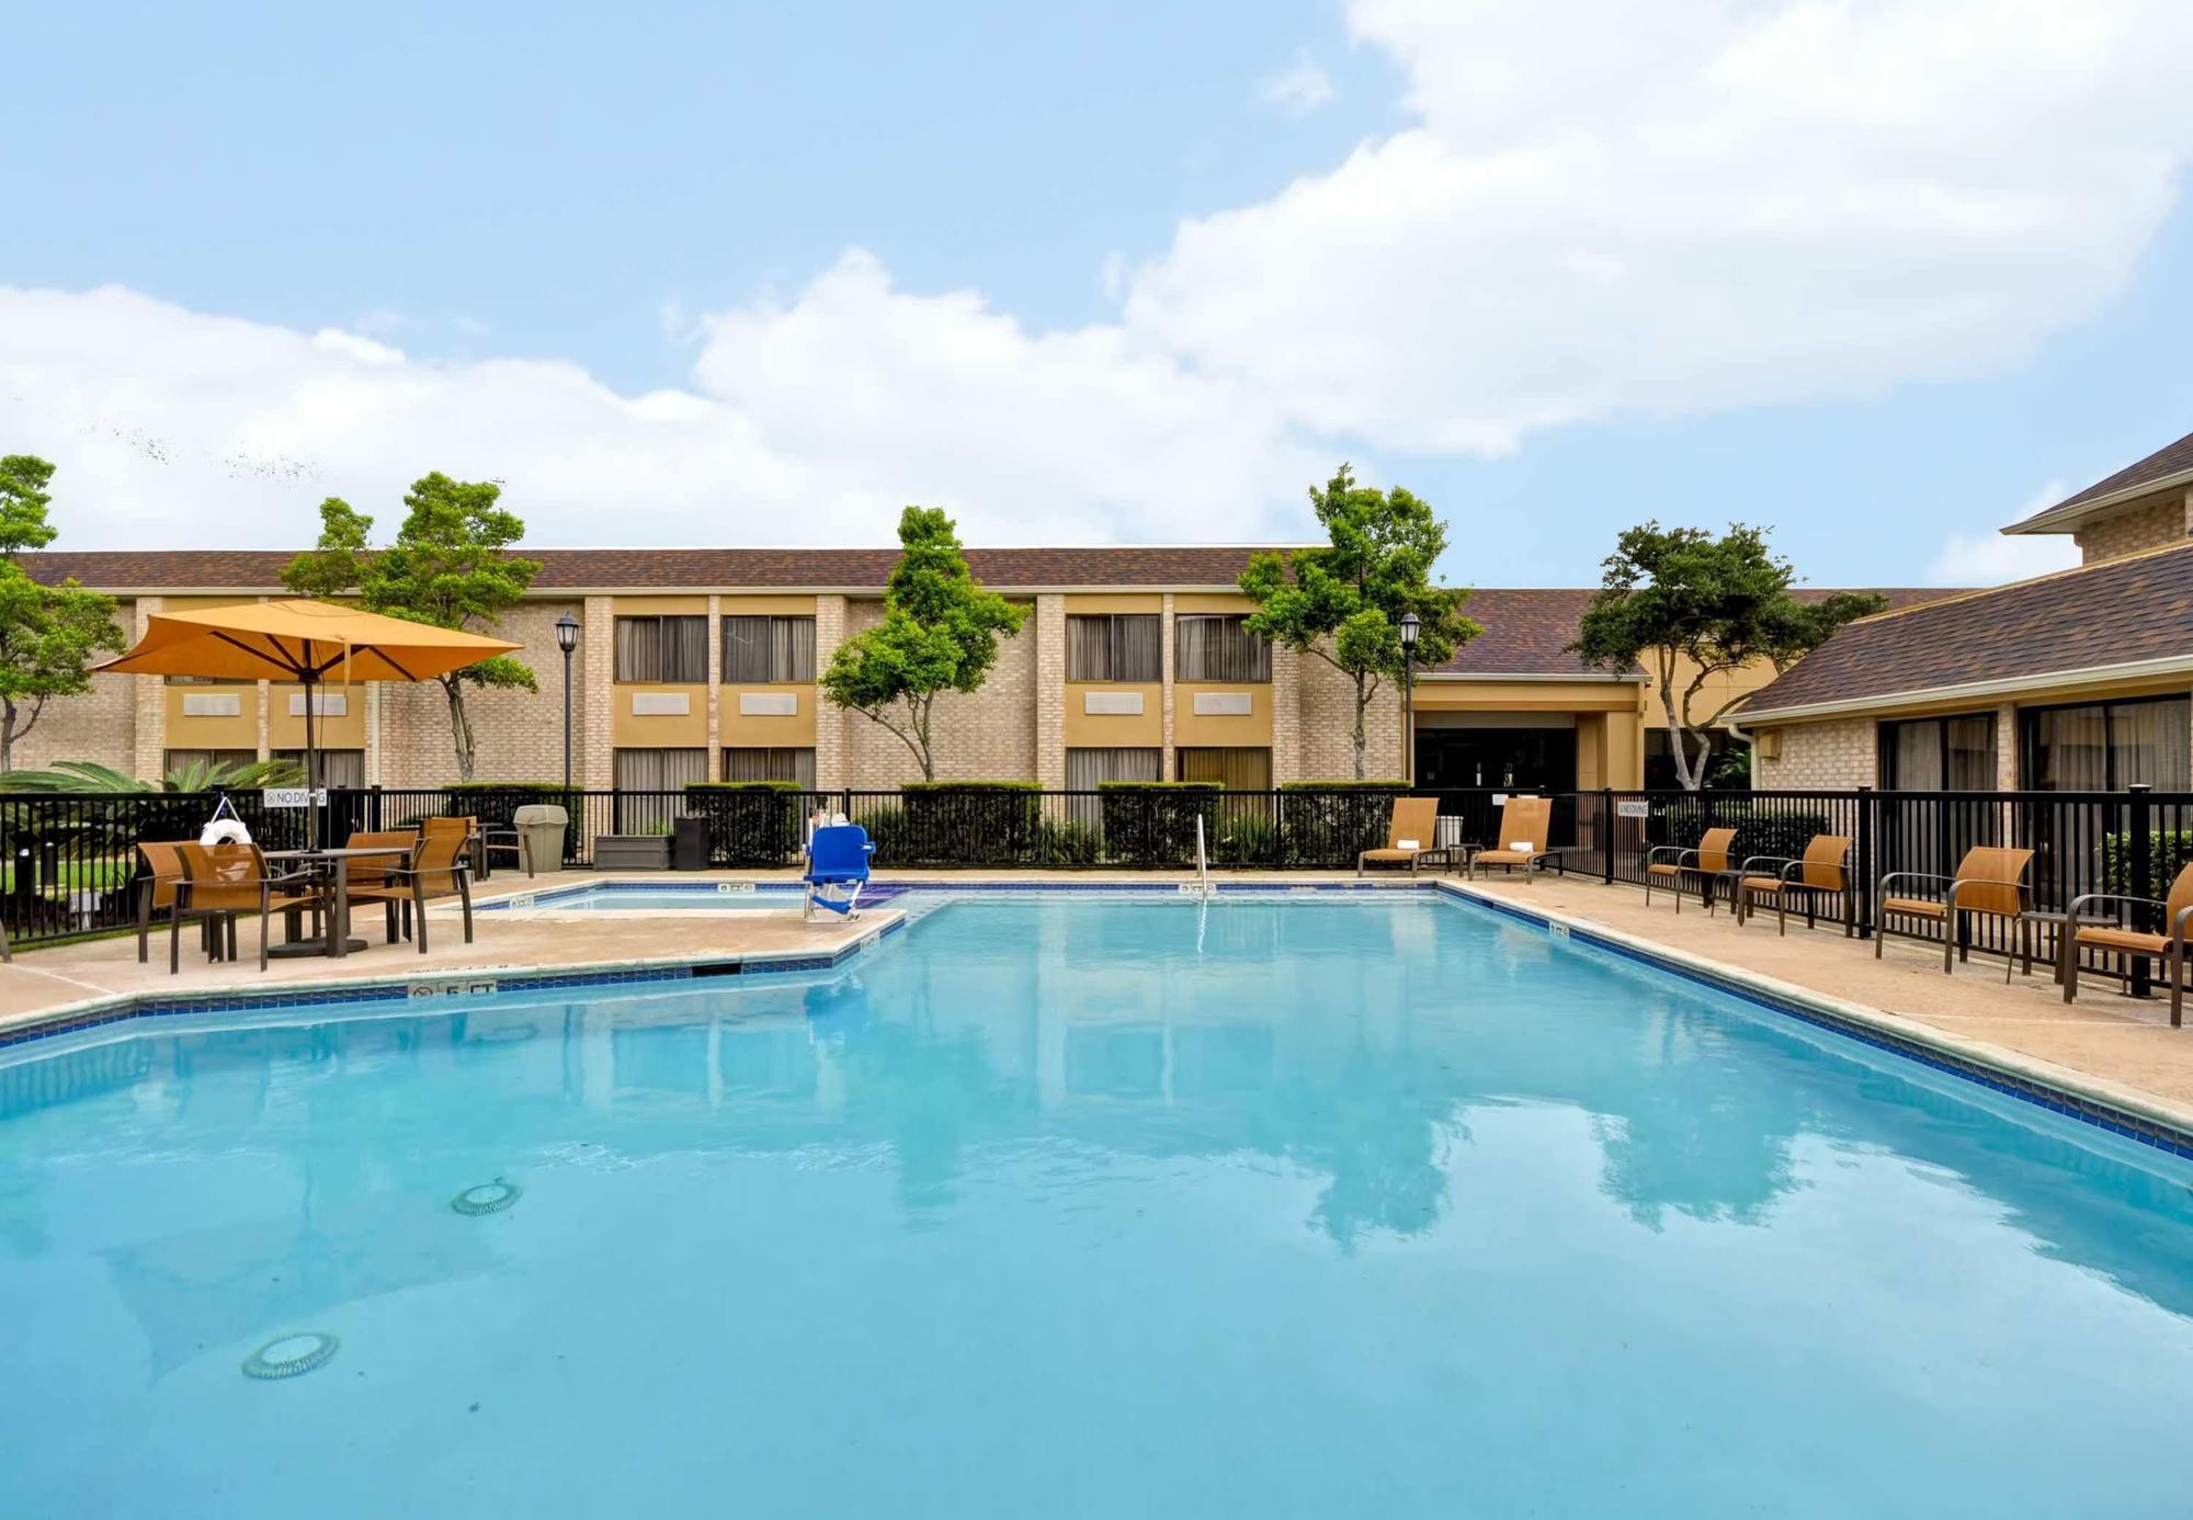
[[[930,715],[945,691],[980,691],[998,638],[1029,616],[967,572],[958,533],[936,507],[899,513],[899,564],[884,583],[884,621],[846,638],[822,671],[822,695],[899,735],[936,779]]]

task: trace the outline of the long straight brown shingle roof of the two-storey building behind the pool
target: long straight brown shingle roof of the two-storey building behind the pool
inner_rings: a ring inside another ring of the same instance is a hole
[[[39,581],[77,577],[112,592],[276,590],[289,548],[149,548],[24,555]],[[879,590],[897,548],[529,548],[535,590]],[[1007,590],[1046,586],[1232,586],[1254,548],[969,548],[967,566]]]

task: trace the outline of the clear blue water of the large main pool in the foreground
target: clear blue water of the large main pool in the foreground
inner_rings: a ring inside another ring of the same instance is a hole
[[[1465,904],[140,1029],[0,1066],[9,1516],[2189,1513],[2193,1167]]]

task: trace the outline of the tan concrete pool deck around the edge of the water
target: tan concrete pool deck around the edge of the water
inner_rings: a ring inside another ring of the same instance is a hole
[[[713,882],[792,880],[789,871],[715,871],[675,877],[693,886]],[[498,875],[476,893],[476,901],[522,893],[557,891],[605,880],[616,873],[566,871],[524,880]],[[667,882],[671,877],[649,877]],[[1077,871],[1044,877],[1029,871],[890,871],[879,884],[950,886],[954,882],[1184,882],[1184,873]],[[1285,875],[1226,873],[1219,884],[1300,886],[1353,880],[1349,871],[1294,871]],[[1406,886],[1408,875],[1375,877]],[[1458,877],[1425,873],[1419,884]],[[2090,978],[2079,1002],[2066,1007],[2048,969],[2002,983],[2002,963],[1976,956],[1954,976],[1941,974],[1941,954],[1923,943],[1890,939],[1886,956],[1873,958],[1871,941],[1842,939],[1840,928],[1792,926],[1776,937],[1770,917],[1735,928],[1728,912],[1702,912],[1695,904],[1678,917],[1667,897],[1645,904],[1629,886],[1603,886],[1581,877],[1496,877],[1469,891],[1522,908],[1610,930],[1649,948],[1706,961],[1715,967],[1770,978],[1857,1011],[1886,1016],[1890,1026],[1917,1024],[1947,1048],[2026,1075],[2059,1068],[2083,1079],[2083,1088],[2105,1097],[2138,1101],[2147,1112],[2193,1130],[2193,1026],[2169,1026],[2169,1000],[2127,998],[2114,983]],[[237,967],[208,963],[184,934],[182,974],[167,972],[167,937],[154,934],[151,961],[138,965],[136,939],[103,939],[50,950],[20,950],[0,967],[0,1033],[46,1022],[70,1009],[110,1002],[118,996],[217,996],[314,991],[355,983],[421,983],[465,974],[533,974],[625,969],[667,963],[746,961],[761,969],[770,958],[836,956],[864,939],[879,937],[899,921],[890,906],[864,910],[857,923],[803,923],[796,908],[785,912],[693,912],[660,915],[555,912],[553,908],[480,915],[474,943],[456,930],[454,910],[434,910],[434,950],[419,954],[410,943],[384,945],[377,915],[355,930],[366,950],[342,961],[274,961],[257,969],[257,928],[239,928]],[[638,930],[636,919],[645,921]]]

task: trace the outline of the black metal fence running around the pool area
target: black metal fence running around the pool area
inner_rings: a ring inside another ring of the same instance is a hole
[[[1493,842],[1500,792],[1441,792],[1436,842]],[[138,840],[195,838],[215,796],[0,794],[7,875],[0,921],[22,943],[68,939],[136,921]],[[303,809],[230,796],[252,836],[270,847],[305,842]],[[1386,842],[1393,794],[1331,792],[761,792],[695,787],[673,792],[555,792],[544,787],[333,790],[320,838],[401,829],[430,816],[474,816],[507,825],[529,803],[570,814],[566,866],[592,864],[603,836],[667,836],[673,820],[708,820],[715,869],[776,869],[798,862],[807,818],[842,814],[868,829],[877,866],[993,869],[1180,869],[1195,864],[1197,823],[1211,866],[1338,869]],[[2156,792],[1568,792],[1553,798],[1550,844],[1559,869],[1605,882],[1645,882],[1654,847],[1691,847],[1713,827],[1732,827],[1735,855],[1794,858],[1816,833],[1853,840],[1851,899],[1822,904],[1860,932],[1877,921],[1875,884],[1890,873],[1947,875],[1967,849],[2009,844],[2033,851],[2031,904],[2061,912],[2083,893],[2167,897],[2193,862],[2193,794]],[[1434,842],[1434,840],[1428,840]],[[504,860],[507,864],[507,860]],[[1917,895],[1923,895],[1917,893]],[[2121,921],[2162,928],[2127,908]],[[1974,921],[1976,945],[2011,950],[2015,926]],[[2048,926],[2035,954],[2053,956]]]

